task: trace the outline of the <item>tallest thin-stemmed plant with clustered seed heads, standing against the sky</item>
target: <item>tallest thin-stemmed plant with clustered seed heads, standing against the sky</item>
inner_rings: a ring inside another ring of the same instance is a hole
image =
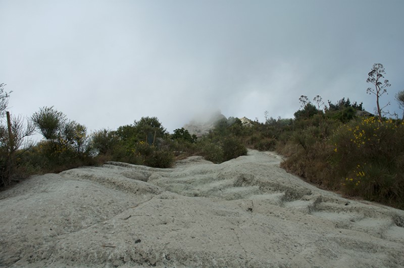
[[[388,102],[382,108],[380,108],[380,104],[379,104],[379,98],[384,93],[387,93],[387,87],[390,86],[387,79],[385,79],[382,82],[382,79],[384,78],[384,76],[383,76],[384,74],[386,74],[386,72],[384,71],[383,65],[381,63],[375,63],[373,65],[373,67],[372,67],[372,70],[368,73],[369,77],[366,80],[367,83],[372,83],[373,85],[375,85],[375,88],[368,87],[366,92],[368,94],[375,94],[376,95],[377,114],[378,114],[380,122],[382,122],[382,120],[383,120],[381,111],[383,110],[383,108],[385,108],[387,105],[390,104],[390,102]]]

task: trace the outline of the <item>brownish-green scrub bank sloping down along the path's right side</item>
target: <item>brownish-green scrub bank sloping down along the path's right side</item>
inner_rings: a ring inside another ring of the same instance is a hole
[[[313,117],[295,121],[283,149],[286,170],[324,188],[404,207],[404,123],[377,118],[347,123]]]

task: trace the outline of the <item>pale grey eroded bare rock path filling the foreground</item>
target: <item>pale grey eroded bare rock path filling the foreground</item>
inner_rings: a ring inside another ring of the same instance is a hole
[[[347,200],[251,150],[122,163],[0,193],[1,267],[400,267],[404,211]]]

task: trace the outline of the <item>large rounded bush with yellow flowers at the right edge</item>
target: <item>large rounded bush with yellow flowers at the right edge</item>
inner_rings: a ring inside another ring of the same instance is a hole
[[[332,137],[333,173],[346,194],[404,203],[404,125],[374,117],[342,125]]]

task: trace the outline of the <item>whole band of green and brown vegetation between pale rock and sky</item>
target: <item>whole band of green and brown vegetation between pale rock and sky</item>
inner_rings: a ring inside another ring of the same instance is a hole
[[[382,65],[374,65],[369,73],[368,82],[376,89],[368,92],[378,97],[389,86],[387,80],[380,82],[383,74]],[[0,84],[1,115],[8,98]],[[397,93],[396,100],[404,107],[404,91]],[[381,122],[380,114],[378,120],[358,118],[363,104],[351,103],[349,98],[328,101],[328,106],[319,95],[313,98],[314,104],[304,95],[299,101],[294,119],[274,119],[266,112],[264,123],[257,120],[243,126],[238,118],[230,117],[199,138],[184,128],[169,135],[156,117],[142,117],[88,137],[84,125],[67,120],[53,106],[44,107],[31,117],[33,125],[20,118],[11,120],[11,132],[0,125],[0,186],[17,173],[59,172],[108,160],[169,168],[176,157],[197,154],[219,164],[245,155],[248,147],[277,150],[287,156],[283,168],[321,187],[403,208],[404,123]],[[24,146],[33,127],[45,139]]]

